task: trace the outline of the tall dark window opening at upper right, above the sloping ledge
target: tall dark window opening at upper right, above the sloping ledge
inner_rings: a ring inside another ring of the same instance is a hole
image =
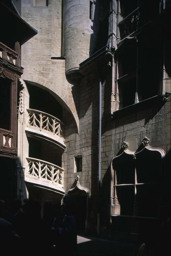
[[[151,15],[143,15],[149,12],[147,1],[134,1],[134,11],[129,9],[127,1],[120,3],[122,13],[124,8],[127,13],[118,24],[122,41],[115,53],[118,68],[115,81],[119,90],[119,108],[123,108],[158,95],[163,63],[162,51],[158,49],[162,48],[163,42],[157,33],[157,23],[149,25],[150,20],[155,20],[158,4]]]

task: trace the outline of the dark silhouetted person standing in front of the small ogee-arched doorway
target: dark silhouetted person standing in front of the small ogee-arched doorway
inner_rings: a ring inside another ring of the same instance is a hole
[[[55,255],[73,255],[77,244],[77,232],[70,195],[64,196],[61,214],[54,219],[52,230],[56,239]]]

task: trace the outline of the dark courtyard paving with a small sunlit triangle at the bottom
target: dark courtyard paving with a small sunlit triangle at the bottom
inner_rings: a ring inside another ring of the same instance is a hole
[[[119,241],[77,236],[75,256],[136,256],[138,245]]]

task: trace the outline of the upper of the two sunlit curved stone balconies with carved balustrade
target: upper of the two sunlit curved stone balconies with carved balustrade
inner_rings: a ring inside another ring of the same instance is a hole
[[[64,123],[55,116],[35,109],[27,109],[26,134],[65,149]]]

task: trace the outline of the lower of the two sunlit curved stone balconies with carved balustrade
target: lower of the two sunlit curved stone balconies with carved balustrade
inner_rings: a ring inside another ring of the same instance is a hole
[[[64,192],[64,169],[40,159],[26,158],[28,166],[25,173],[25,181],[37,184],[43,188]]]

